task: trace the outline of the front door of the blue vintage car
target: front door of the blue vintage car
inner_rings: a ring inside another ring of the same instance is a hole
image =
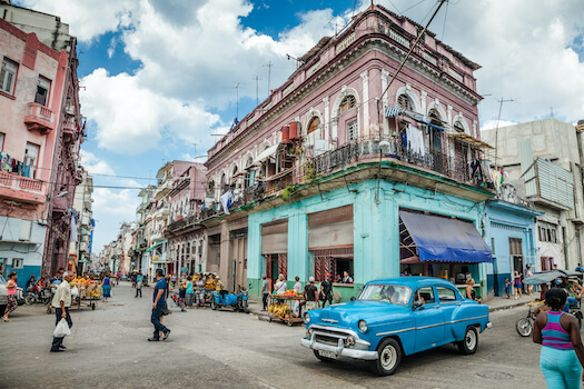
[[[419,288],[414,295],[414,302],[419,300],[419,297],[423,299],[423,305],[414,310],[416,352],[444,343],[444,312],[436,299],[435,289]]]

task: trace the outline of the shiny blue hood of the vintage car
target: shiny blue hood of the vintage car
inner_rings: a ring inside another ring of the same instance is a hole
[[[406,306],[383,301],[350,301],[321,309],[319,319],[325,323],[343,325],[362,319],[370,321],[370,319],[406,312],[408,312]]]

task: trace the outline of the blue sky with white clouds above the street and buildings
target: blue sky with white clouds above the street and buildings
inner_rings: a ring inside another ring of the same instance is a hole
[[[437,0],[374,2],[425,24]],[[93,174],[99,252],[121,222],[136,220],[139,188],[155,183],[166,161],[205,161],[212,133],[225,133],[291,74],[287,54],[301,57],[370,0],[16,3],[59,16],[78,38],[89,129],[81,163]],[[503,104],[501,126],[584,119],[581,0],[449,0],[429,30],[482,66],[482,128],[496,126],[497,99],[514,100]]]

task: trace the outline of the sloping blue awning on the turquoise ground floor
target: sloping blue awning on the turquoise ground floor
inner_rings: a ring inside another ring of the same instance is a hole
[[[491,249],[471,222],[399,211],[420,261],[493,262]]]

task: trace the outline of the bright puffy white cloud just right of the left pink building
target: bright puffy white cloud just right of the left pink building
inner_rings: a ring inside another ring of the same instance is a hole
[[[113,152],[139,154],[162,140],[209,144],[208,130],[220,120],[196,102],[164,98],[127,73],[110,77],[105,69],[96,69],[82,83],[83,113],[97,122],[99,147]]]

